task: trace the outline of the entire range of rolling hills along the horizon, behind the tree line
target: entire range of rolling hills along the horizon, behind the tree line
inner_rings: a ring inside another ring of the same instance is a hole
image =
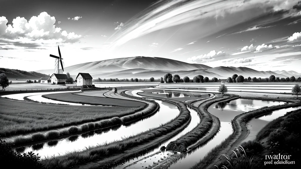
[[[96,62],[81,63],[64,68],[64,72],[77,75],[79,72],[90,73],[93,78],[160,78],[166,73],[180,75],[181,78],[188,76],[203,75],[208,78],[228,78],[233,74],[242,75],[245,78],[268,78],[270,75],[286,78],[300,73],[294,71],[257,71],[247,67],[219,66],[210,67],[202,64],[191,64],[178,60],[161,57],[128,57]],[[38,70],[36,72],[52,74],[54,70]]]

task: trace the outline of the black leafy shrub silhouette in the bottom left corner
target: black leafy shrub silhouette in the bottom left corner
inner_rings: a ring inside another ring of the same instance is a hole
[[[4,166],[6,164],[9,168],[42,168],[39,163],[40,156],[38,155],[33,152],[20,154],[0,139],[0,164]]]

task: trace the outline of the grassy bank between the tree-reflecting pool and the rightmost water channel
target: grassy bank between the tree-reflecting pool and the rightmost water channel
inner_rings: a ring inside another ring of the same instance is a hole
[[[249,98],[250,99],[250,98]],[[259,98],[253,98],[253,99],[259,99]],[[272,100],[278,100],[283,101],[280,99],[272,99]],[[237,115],[232,120],[232,128],[234,132],[228,136],[222,143],[220,143],[218,146],[211,149],[208,154],[201,159],[194,167],[191,167],[192,169],[200,169],[208,167],[212,162],[216,160],[216,158],[221,155],[222,152],[225,152],[227,148],[231,148],[232,145],[235,145],[235,142],[239,140],[242,136],[242,131],[247,131],[247,122],[249,122],[252,118],[255,118],[260,115],[264,115],[267,113],[270,113],[272,111],[283,109],[291,106],[298,106],[300,105],[299,102],[295,102],[292,104],[285,104],[285,105],[277,105],[277,106],[271,106],[271,107],[262,107],[257,110],[244,112],[243,114]],[[244,134],[247,134],[247,132],[244,132]],[[228,150],[230,151],[230,149]]]

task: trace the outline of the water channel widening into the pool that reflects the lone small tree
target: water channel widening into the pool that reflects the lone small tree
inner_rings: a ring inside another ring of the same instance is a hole
[[[219,132],[206,143],[204,146],[201,146],[187,154],[186,157],[177,161],[177,163],[170,165],[169,168],[179,169],[179,168],[190,168],[194,166],[200,159],[202,159],[211,149],[216,145],[222,143],[229,135],[233,133],[231,120],[241,113],[251,111],[254,109],[259,109],[263,106],[272,106],[284,104],[284,102],[272,102],[272,101],[263,101],[263,100],[249,100],[249,99],[237,99],[232,100],[226,105],[221,104],[222,102],[214,103],[208,108],[210,114],[215,115],[220,119],[220,130]],[[224,112],[223,112],[224,111]]]

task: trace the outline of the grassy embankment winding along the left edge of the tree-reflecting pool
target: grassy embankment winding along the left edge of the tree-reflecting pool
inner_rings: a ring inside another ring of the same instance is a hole
[[[235,95],[229,95],[228,97],[222,97],[222,98],[221,98],[221,96],[219,96],[218,98],[206,100],[205,102],[198,105],[198,107],[195,106],[194,103],[190,103],[189,106],[198,112],[200,118],[211,118],[212,125],[208,128],[208,126],[206,126],[206,124],[204,125],[203,123],[200,123],[195,129],[193,129],[193,130],[199,130],[200,128],[207,127],[206,128],[207,132],[203,135],[203,137],[200,137],[200,139],[196,143],[188,146],[187,153],[193,152],[198,147],[203,146],[206,143],[208,143],[219,131],[219,128],[220,128],[219,118],[210,114],[207,111],[207,108],[217,102],[225,102],[225,101],[235,100],[238,98],[239,98],[239,96],[235,96]],[[185,137],[185,135],[180,138],[185,139],[184,137]],[[168,168],[169,165],[175,163],[176,161],[178,161],[181,158],[184,158],[185,155],[186,154],[176,154],[173,156],[169,156],[164,161],[162,161],[162,163],[155,164],[155,165],[153,165],[153,167],[154,167],[154,169]]]

